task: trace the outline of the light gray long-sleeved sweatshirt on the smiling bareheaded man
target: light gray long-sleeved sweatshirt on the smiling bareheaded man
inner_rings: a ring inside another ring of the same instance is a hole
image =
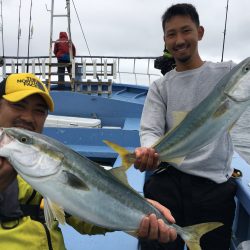
[[[234,65],[231,61],[205,62],[194,70],[177,72],[174,69],[153,82],[141,118],[141,145],[152,146],[173,127],[173,112],[191,111]],[[226,132],[211,144],[188,155],[181,165],[175,167],[182,172],[222,183],[233,172],[232,155],[233,144],[230,134]]]

